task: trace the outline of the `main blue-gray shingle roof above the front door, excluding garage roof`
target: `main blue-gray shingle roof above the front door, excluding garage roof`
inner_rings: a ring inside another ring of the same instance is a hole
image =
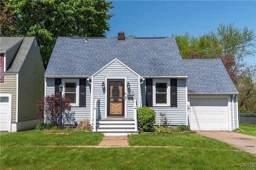
[[[141,76],[185,76],[175,37],[58,37],[45,76],[90,76],[114,58]]]

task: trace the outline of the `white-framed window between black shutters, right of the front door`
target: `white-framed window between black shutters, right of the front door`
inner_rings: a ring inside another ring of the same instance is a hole
[[[153,106],[170,106],[169,79],[153,79]]]

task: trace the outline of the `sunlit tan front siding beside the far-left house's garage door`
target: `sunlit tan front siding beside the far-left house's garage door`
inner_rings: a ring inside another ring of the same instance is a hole
[[[12,94],[12,122],[16,122],[16,74],[4,75],[4,82],[0,83],[1,94]]]

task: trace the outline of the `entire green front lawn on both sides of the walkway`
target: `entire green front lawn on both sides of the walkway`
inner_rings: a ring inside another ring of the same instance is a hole
[[[119,148],[82,147],[98,145],[103,137],[100,133],[84,131],[46,135],[31,130],[1,133],[0,137],[0,169],[4,170],[230,170],[242,169],[250,163],[246,169],[255,169],[256,165],[256,158],[251,154],[196,133],[128,135],[133,147]],[[65,147],[70,145],[73,146]]]

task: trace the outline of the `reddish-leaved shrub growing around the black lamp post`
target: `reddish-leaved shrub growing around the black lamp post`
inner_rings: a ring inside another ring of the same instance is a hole
[[[50,123],[52,127],[58,123],[60,115],[60,95],[46,96],[42,100],[36,102],[36,114],[39,119],[44,119],[46,123]],[[66,115],[66,110],[70,109],[70,100],[67,97],[62,97],[62,111]],[[69,113],[68,113],[69,114]],[[63,117],[64,115],[62,115]]]

